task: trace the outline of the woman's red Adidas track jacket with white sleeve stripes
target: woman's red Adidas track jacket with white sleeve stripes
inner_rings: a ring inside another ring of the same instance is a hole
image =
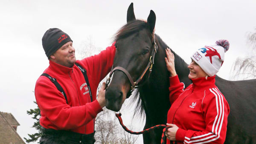
[[[178,76],[170,77],[171,108],[167,123],[176,124],[177,144],[223,144],[230,108],[215,86],[215,76],[192,79],[184,91]],[[167,141],[170,144],[170,141]]]

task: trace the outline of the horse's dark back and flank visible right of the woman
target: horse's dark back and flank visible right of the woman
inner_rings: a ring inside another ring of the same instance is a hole
[[[256,143],[256,79],[227,81],[216,76],[215,84],[230,106],[225,143]]]

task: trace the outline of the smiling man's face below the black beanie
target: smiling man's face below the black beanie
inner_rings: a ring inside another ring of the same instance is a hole
[[[62,66],[72,67],[76,62],[73,42],[69,41],[50,56],[51,60]]]

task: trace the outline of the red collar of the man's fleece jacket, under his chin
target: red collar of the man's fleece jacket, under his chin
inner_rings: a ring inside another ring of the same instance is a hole
[[[52,60],[49,60],[49,69],[56,72],[59,75],[68,75],[74,68],[75,65],[73,65],[71,68],[62,66],[58,63],[53,62]]]

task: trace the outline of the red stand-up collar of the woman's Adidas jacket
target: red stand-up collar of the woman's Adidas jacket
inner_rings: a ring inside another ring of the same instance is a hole
[[[212,77],[205,77],[202,78],[195,78],[191,79],[192,80],[192,86],[193,88],[206,88],[206,87],[212,87],[215,85],[215,75]]]

